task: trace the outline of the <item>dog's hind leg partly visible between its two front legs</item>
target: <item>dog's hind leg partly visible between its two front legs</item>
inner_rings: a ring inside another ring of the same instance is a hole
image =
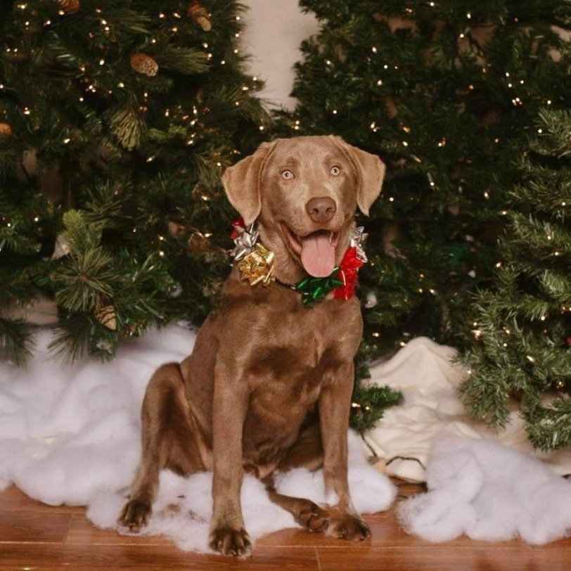
[[[287,472],[293,468],[319,470],[323,466],[323,445],[319,420],[315,419],[302,429],[300,437],[288,450],[288,454],[278,464],[278,472]],[[286,496],[276,491],[274,473],[262,480],[266,486],[269,499],[284,510],[290,512],[297,523],[310,532],[326,532],[329,525],[329,514],[309,499]]]

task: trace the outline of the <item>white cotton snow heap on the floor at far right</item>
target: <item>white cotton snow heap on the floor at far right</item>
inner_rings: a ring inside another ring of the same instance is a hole
[[[428,541],[466,534],[545,544],[571,534],[571,482],[498,442],[435,437],[426,483],[428,492],[404,501],[398,516]]]

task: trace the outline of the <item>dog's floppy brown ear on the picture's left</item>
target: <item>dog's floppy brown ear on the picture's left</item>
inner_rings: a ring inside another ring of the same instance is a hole
[[[253,155],[228,167],[222,175],[222,184],[231,205],[240,212],[246,226],[252,224],[262,208],[260,184],[264,165],[276,142],[262,143]]]

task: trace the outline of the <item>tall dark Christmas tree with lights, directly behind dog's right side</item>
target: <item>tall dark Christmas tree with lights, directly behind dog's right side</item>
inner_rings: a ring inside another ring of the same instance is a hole
[[[540,108],[570,104],[563,0],[302,0],[302,45],[283,130],[334,133],[387,164],[361,271],[362,357],[416,335],[473,342],[470,299],[489,286],[517,162]]]

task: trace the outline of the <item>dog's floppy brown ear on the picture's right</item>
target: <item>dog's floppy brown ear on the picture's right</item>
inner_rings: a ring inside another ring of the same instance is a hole
[[[380,194],[385,178],[385,163],[377,155],[349,145],[338,136],[331,135],[342,150],[349,156],[357,172],[357,205],[368,216],[371,205]]]

